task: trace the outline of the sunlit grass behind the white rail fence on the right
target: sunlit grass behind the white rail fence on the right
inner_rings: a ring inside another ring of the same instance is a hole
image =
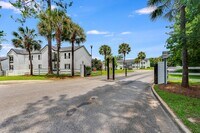
[[[182,75],[169,74],[168,81],[172,83],[180,84],[182,80]],[[200,85],[200,75],[189,75],[190,85]]]

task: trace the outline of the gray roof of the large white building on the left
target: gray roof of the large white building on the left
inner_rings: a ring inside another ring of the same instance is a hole
[[[48,46],[48,45],[46,45],[46,46]],[[46,46],[44,46],[42,49],[44,49]],[[75,46],[74,47],[74,50],[77,50],[77,49],[79,49],[79,48],[81,48],[81,47],[84,47],[84,46]],[[37,51],[33,51],[33,52],[31,52],[32,54],[41,54],[41,51],[42,51],[42,49],[41,50],[37,50]],[[57,50],[57,48],[56,47],[52,47],[52,49],[53,50]],[[28,55],[28,52],[25,50],[25,49],[14,49],[14,48],[12,48],[11,50],[13,50],[15,53],[17,53],[17,54],[23,54],[23,55]],[[71,51],[71,47],[62,47],[61,49],[60,49],[60,52],[70,52]]]

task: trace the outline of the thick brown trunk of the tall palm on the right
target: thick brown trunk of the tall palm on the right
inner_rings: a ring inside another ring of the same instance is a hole
[[[189,87],[188,80],[188,51],[187,51],[187,40],[186,40],[186,16],[185,16],[185,6],[181,7],[181,16],[180,16],[180,31],[181,33],[181,43],[182,43],[182,87]]]

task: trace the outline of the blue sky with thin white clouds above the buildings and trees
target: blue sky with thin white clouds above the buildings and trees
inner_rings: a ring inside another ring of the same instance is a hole
[[[7,40],[2,43],[0,56],[5,56],[13,47],[12,32],[20,26],[10,16],[17,18],[19,12],[8,0],[0,1],[0,5],[0,29],[6,33],[4,38]],[[83,45],[89,52],[90,45],[93,45],[93,57],[103,59],[99,55],[99,47],[103,44],[111,47],[113,55],[118,55],[119,44],[124,42],[131,46],[127,58],[136,58],[140,51],[144,51],[147,57],[157,57],[166,50],[168,29],[165,27],[170,23],[163,18],[152,22],[149,13],[154,9],[147,7],[147,0],[74,0],[73,6],[68,8],[68,15],[85,30],[87,41]],[[38,20],[30,19],[26,25],[37,29],[37,23]],[[42,46],[47,44],[43,37],[38,39],[43,41]],[[70,44],[63,42],[62,46]]]

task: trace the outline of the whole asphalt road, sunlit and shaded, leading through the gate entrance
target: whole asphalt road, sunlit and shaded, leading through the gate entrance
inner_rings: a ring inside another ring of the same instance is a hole
[[[153,72],[0,84],[0,132],[178,133],[153,96]]]

